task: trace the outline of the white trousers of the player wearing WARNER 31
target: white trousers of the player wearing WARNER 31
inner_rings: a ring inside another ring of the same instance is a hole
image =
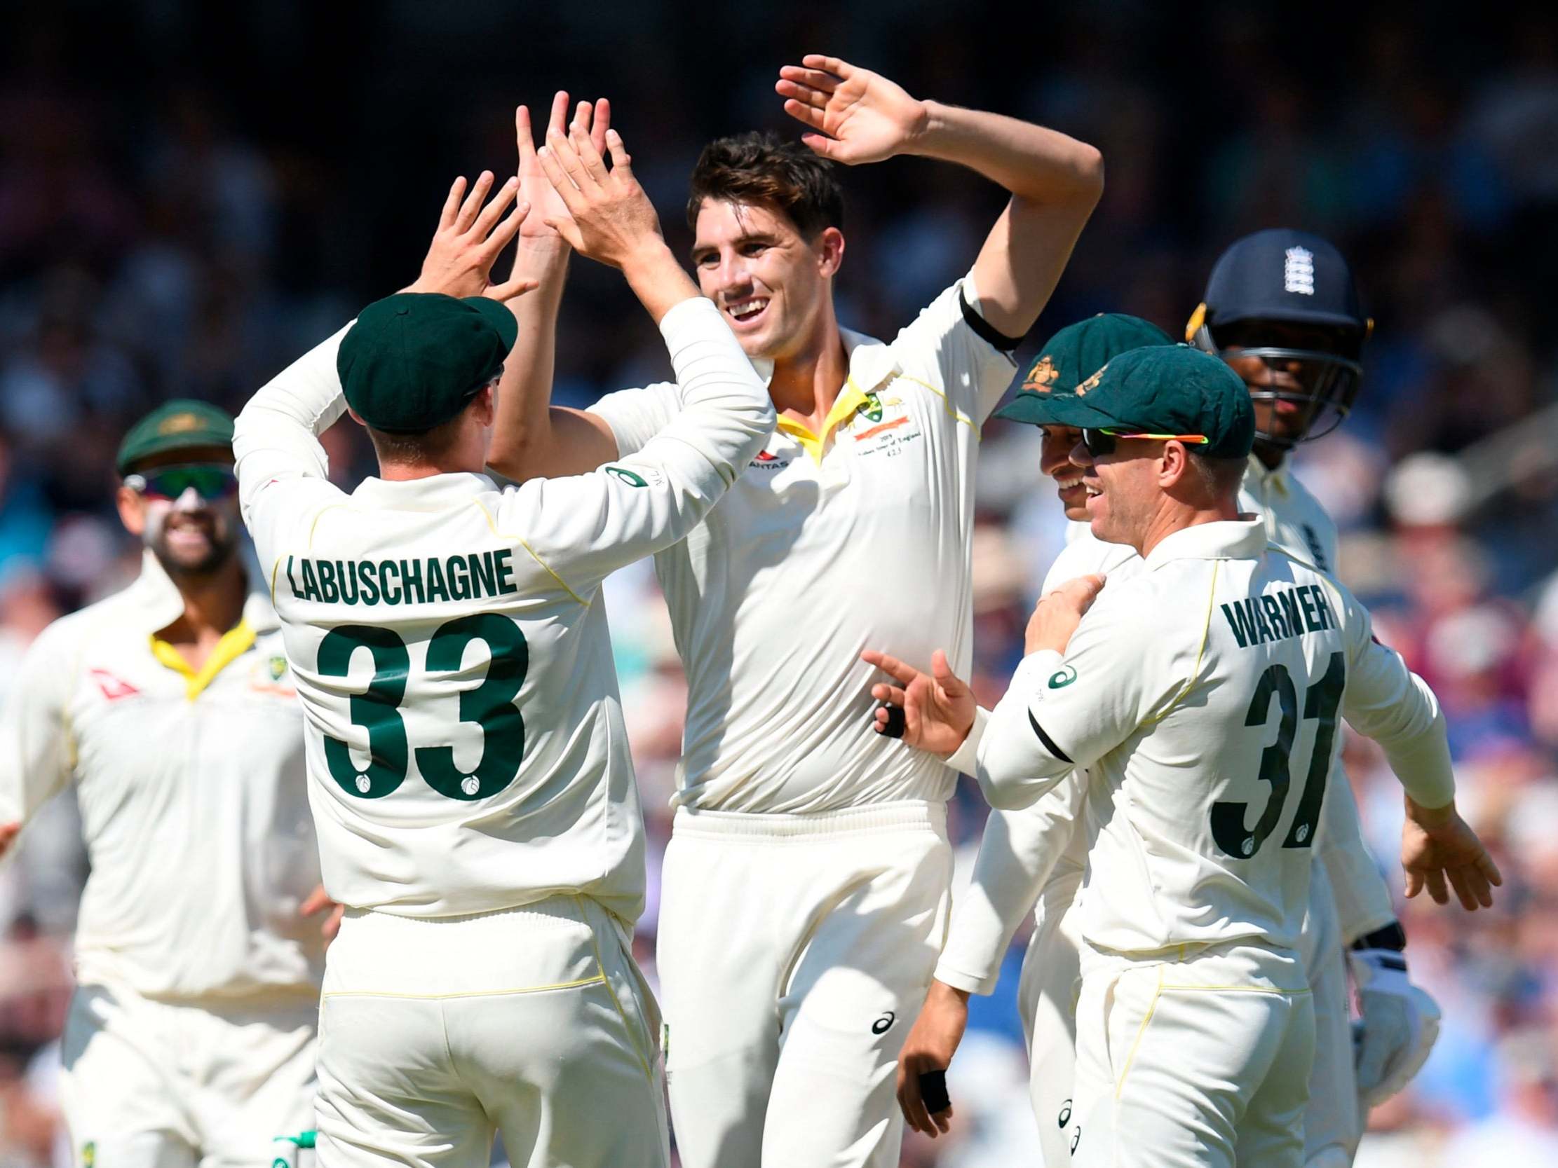
[[[1299,1168],[1315,1011],[1292,950],[1084,948],[1075,1168]]]

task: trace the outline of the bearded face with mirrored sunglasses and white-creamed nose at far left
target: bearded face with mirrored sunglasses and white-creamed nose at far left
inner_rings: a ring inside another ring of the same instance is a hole
[[[231,473],[232,452],[224,447],[173,450],[137,463],[134,473],[142,481],[157,483],[157,470],[167,467],[212,467]],[[237,492],[204,498],[189,486],[168,498],[154,489],[126,484],[118,489],[117,503],[125,528],[140,536],[170,576],[209,576],[238,547]]]

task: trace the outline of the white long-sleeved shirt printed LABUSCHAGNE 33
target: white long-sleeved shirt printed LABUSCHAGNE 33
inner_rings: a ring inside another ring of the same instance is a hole
[[[316,434],[344,410],[344,330],[240,414],[240,500],[307,718],[337,900],[433,917],[581,892],[625,920],[642,911],[643,824],[600,582],[686,536],[774,419],[710,302],[678,304],[661,332],[676,422],[587,475],[341,491]]]

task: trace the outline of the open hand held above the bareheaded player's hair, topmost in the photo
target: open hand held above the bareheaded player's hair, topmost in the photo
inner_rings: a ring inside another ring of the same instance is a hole
[[[901,86],[837,56],[809,53],[785,65],[774,90],[785,98],[784,112],[812,128],[801,140],[849,167],[904,153],[930,117]]]

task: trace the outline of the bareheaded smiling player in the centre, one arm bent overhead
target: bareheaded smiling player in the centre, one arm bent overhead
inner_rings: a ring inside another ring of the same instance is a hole
[[[785,67],[777,90],[804,145],[712,143],[687,207],[698,283],[773,363],[779,417],[720,506],[656,558],[689,681],[659,919],[667,1075],[689,1168],[880,1168],[897,1163],[894,1064],[946,931],[955,776],[871,730],[858,654],[947,645],[969,660],[978,427],[1102,164],[837,58]],[[894,154],[971,167],[1011,199],[969,274],[883,344],[835,315],[832,164]],[[548,413],[547,380],[508,402],[506,475],[625,458],[686,410],[657,385]]]

